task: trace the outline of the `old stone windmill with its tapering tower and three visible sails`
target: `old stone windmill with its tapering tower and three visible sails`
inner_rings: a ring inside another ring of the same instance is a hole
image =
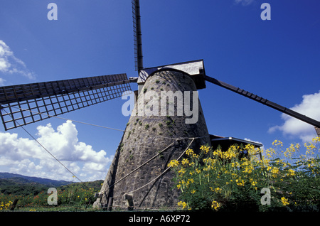
[[[171,190],[173,175],[167,167],[169,161],[181,158],[189,148],[197,150],[202,144],[230,140],[210,136],[201,104],[194,101],[197,100],[197,96],[190,95],[189,101],[183,102],[185,114],[182,115],[178,115],[178,101],[175,102],[178,96],[173,99],[166,96],[166,107],[171,106],[171,112],[174,114],[166,112],[165,115],[159,116],[139,112],[139,109],[156,112],[156,104],[151,102],[153,98],[145,97],[148,93],[196,93],[196,90],[206,88],[206,82],[210,82],[289,114],[316,128],[320,127],[320,122],[314,119],[209,77],[206,75],[203,60],[144,68],[139,0],[132,0],[132,12],[138,77],[128,78],[126,74],[102,75],[0,87],[1,119],[4,129],[9,130],[121,97],[123,93],[130,92],[130,83],[137,82],[139,90],[133,109],[135,114],[129,118],[95,206],[174,207],[178,191]],[[161,100],[159,99],[159,102]],[[198,116],[195,123],[186,123],[186,119],[192,117],[186,114],[186,104],[189,109],[196,109],[196,112],[193,112]],[[161,109],[158,112],[161,112]],[[233,140],[242,142],[239,139]]]

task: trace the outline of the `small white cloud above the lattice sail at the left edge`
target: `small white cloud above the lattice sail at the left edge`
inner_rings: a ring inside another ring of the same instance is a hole
[[[14,56],[14,52],[2,40],[0,40],[0,72],[23,75],[31,80],[36,77],[33,72],[28,70],[22,60]],[[4,81],[2,80],[2,82]]]

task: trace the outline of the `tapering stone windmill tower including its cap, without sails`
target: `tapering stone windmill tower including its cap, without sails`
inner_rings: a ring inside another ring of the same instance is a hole
[[[186,149],[210,144],[196,92],[203,88],[202,66],[201,60],[142,70],[148,76],[144,81],[139,78],[143,86],[134,106],[136,114],[129,119],[102,185],[98,200],[102,206],[176,207],[178,190],[172,190],[169,161],[181,158]]]

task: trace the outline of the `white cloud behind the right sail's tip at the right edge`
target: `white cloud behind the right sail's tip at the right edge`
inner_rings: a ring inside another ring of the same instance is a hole
[[[312,95],[303,95],[302,102],[290,109],[320,121],[320,91]],[[299,139],[302,139],[303,142],[311,141],[311,138],[316,136],[316,131],[310,124],[290,117],[287,114],[282,114],[281,117],[284,120],[284,124],[271,127],[269,129],[270,133],[279,130],[282,131],[283,134],[297,136]]]

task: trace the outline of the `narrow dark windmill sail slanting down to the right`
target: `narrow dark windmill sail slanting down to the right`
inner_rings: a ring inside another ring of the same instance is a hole
[[[215,78],[213,77],[209,77],[209,76],[205,76],[205,80],[207,80],[208,82],[211,82],[215,85],[218,85],[220,87],[223,87],[227,90],[231,90],[233,92],[236,92],[242,96],[245,96],[245,97],[248,97],[250,99],[253,99],[255,100],[256,102],[260,102],[261,104],[265,104],[267,105],[268,107],[272,107],[273,109],[276,109],[278,110],[279,112],[283,112],[284,114],[288,114],[289,116],[291,117],[294,117],[296,119],[299,119],[299,120],[302,120],[303,122],[306,122],[308,124],[311,124],[312,126],[314,127],[318,127],[320,128],[320,122],[319,121],[316,121],[314,119],[311,119],[309,117],[306,117],[305,115],[303,114],[300,114],[298,112],[294,112],[292,111],[292,109],[287,109],[287,107],[283,107],[279,104],[276,104],[274,102],[271,102],[270,100],[268,99],[265,99],[265,98],[262,98],[262,97],[259,97],[257,95],[254,95],[253,93],[251,92],[247,92],[245,90],[242,90],[238,87],[235,87],[233,85],[230,85],[228,83],[225,83],[225,82],[222,82],[222,81],[219,81],[219,80],[216,80]]]

